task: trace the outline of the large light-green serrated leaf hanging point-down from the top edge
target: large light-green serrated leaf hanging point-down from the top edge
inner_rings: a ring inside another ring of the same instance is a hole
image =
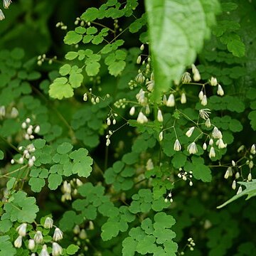
[[[218,0],[145,0],[154,64],[154,100],[180,80],[210,36]]]

